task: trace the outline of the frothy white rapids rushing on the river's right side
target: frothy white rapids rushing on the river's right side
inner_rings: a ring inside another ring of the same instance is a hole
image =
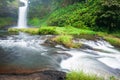
[[[73,57],[63,60],[61,67],[70,71],[84,71],[94,73],[98,76],[108,78],[116,76],[120,78],[120,51],[115,49],[104,40],[85,40],[80,39],[84,45],[91,47],[88,49],[73,49],[65,51]]]

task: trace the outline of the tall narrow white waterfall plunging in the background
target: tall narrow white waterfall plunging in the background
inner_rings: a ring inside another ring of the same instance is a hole
[[[20,2],[23,2],[24,6],[19,7],[18,28],[26,28],[28,0],[20,0]]]

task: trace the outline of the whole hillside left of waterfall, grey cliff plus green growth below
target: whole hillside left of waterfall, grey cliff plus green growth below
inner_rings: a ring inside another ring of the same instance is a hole
[[[19,0],[0,0],[0,28],[16,25]]]

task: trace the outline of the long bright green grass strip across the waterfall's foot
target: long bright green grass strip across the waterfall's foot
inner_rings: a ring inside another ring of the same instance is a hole
[[[36,34],[68,34],[68,35],[95,35],[96,32],[92,30],[86,30],[86,29],[78,29],[71,26],[67,27],[56,27],[56,26],[45,26],[38,28],[26,28],[26,29],[18,29],[18,28],[9,28],[9,32],[17,32],[22,31],[26,33],[34,32]]]

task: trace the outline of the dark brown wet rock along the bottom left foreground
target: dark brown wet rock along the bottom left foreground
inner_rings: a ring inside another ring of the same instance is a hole
[[[0,80],[65,80],[66,73],[46,70],[30,74],[1,74]]]

